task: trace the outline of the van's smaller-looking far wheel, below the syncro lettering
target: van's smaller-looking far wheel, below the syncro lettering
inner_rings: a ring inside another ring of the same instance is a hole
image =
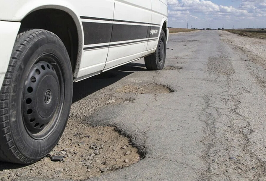
[[[147,70],[163,70],[166,58],[166,36],[161,30],[159,42],[156,51],[145,57],[145,66]]]

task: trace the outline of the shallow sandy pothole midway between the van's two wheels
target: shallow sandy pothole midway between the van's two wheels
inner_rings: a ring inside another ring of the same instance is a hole
[[[168,85],[144,84],[144,85],[125,85],[116,90],[117,93],[137,93],[137,94],[167,94],[175,90]]]

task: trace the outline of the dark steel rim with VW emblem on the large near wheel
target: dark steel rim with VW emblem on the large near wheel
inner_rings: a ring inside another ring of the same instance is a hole
[[[43,82],[44,79],[50,79],[50,85],[43,85],[47,82]],[[64,103],[64,86],[63,69],[58,58],[50,53],[39,56],[31,66],[24,82],[21,106],[25,129],[33,139],[46,138],[59,123]],[[47,105],[45,110],[42,110],[42,104]],[[51,106],[50,109],[49,106]]]

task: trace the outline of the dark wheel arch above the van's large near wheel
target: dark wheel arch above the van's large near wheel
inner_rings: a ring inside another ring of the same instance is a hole
[[[53,18],[43,18],[43,15]],[[63,15],[68,16],[60,21]],[[17,14],[17,17],[23,17],[20,20],[20,29],[41,28],[55,33],[66,46],[71,60],[73,78],[77,77],[83,48],[83,29],[79,16],[66,6],[43,5],[35,7],[24,16]],[[58,26],[59,24],[53,24],[54,22],[61,24]],[[60,27],[65,27],[65,31],[62,31]]]

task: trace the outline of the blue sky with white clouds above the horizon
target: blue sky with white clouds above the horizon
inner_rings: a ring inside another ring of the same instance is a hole
[[[167,0],[168,27],[266,28],[266,0]]]

